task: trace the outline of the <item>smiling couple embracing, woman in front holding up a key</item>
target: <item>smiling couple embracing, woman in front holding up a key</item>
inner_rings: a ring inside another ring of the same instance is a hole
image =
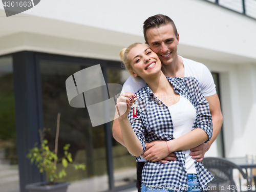
[[[126,69],[137,80],[130,77],[124,83],[117,100],[119,118],[114,120],[113,136],[134,156],[144,152],[147,161],[142,184],[143,163],[137,164],[138,190],[140,186],[143,191],[170,186],[180,191],[179,187],[188,184],[204,191],[212,176],[200,161],[222,124],[214,81],[204,65],[178,56],[179,34],[172,19],[165,15],[149,17],[143,29],[150,47],[133,44],[121,52]],[[131,110],[135,101],[137,117]]]

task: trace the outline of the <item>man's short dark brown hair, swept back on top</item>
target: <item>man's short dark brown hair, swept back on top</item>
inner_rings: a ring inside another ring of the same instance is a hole
[[[178,35],[177,29],[176,29],[176,26],[175,26],[173,20],[166,15],[158,14],[158,15],[148,17],[143,24],[144,24],[143,25],[143,33],[144,33],[144,38],[145,38],[145,41],[147,44],[148,44],[148,42],[147,42],[147,37],[146,37],[146,31],[148,29],[159,28],[164,25],[170,24],[173,26],[175,36],[177,37],[177,35]]]

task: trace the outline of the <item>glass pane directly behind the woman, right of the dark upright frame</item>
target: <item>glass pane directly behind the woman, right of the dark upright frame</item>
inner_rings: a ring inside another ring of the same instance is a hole
[[[130,73],[122,69],[108,69],[108,83],[123,84]],[[113,121],[111,122],[111,127]],[[114,185],[116,187],[136,181],[136,159],[113,138]]]

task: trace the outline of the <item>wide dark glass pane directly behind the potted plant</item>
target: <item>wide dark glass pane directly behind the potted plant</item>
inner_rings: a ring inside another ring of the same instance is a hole
[[[53,150],[57,113],[60,113],[58,156],[62,156],[63,146],[69,143],[74,163],[86,164],[86,170],[68,167],[67,177],[62,181],[71,182],[70,192],[105,191],[109,189],[109,177],[104,125],[92,127],[88,110],[70,106],[66,92],[66,79],[82,69],[75,63],[40,61],[44,126],[51,128],[46,139]],[[61,168],[61,164],[57,167]]]

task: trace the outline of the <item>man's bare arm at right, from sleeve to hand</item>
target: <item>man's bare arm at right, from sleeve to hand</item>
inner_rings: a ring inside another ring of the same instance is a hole
[[[203,160],[204,154],[209,150],[210,145],[215,141],[215,139],[219,135],[223,121],[220,100],[217,93],[205,97],[205,99],[209,103],[213,132],[211,139],[207,143],[202,143],[201,145],[190,150],[191,153],[189,155],[192,156],[193,159],[197,159],[198,162]]]

